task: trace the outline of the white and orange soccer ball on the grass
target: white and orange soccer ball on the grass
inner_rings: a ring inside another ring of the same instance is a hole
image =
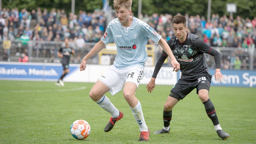
[[[70,132],[74,138],[83,140],[91,133],[91,127],[85,120],[76,120],[72,123]]]

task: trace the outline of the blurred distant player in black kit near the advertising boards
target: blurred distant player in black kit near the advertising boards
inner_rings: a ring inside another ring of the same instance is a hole
[[[65,47],[61,47],[60,50],[57,52],[58,57],[62,58],[61,63],[63,66],[63,72],[61,77],[59,78],[58,82],[55,83],[57,86],[64,86],[63,78],[66,76],[67,73],[69,73],[69,60],[70,55],[75,55],[75,51],[72,47],[69,46],[68,42],[69,40],[66,38],[65,40]]]

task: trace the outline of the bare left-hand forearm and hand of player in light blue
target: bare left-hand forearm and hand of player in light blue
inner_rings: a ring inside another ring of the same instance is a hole
[[[84,58],[80,64],[80,71],[84,71],[86,68],[87,60],[90,59],[93,55],[100,52],[104,47],[105,47],[105,43],[102,40],[97,42],[96,45],[92,48],[92,50],[84,56]]]

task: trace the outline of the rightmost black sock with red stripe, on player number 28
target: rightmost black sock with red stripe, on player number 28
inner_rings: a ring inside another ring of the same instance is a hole
[[[204,104],[204,108],[205,108],[205,111],[206,111],[208,117],[213,122],[213,125],[214,126],[218,125],[219,124],[219,120],[218,120],[215,108],[214,108],[213,103],[211,102],[211,100],[208,99],[206,102],[203,102],[203,104]]]

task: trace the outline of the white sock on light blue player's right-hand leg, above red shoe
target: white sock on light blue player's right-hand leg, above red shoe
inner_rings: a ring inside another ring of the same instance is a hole
[[[143,116],[143,112],[142,112],[142,108],[141,108],[141,104],[138,101],[138,104],[135,106],[135,108],[130,107],[132,112],[133,112],[133,116],[136,120],[136,122],[138,123],[139,127],[140,127],[140,131],[143,132],[147,132],[148,131],[148,127],[145,123],[144,120],[144,116]]]

